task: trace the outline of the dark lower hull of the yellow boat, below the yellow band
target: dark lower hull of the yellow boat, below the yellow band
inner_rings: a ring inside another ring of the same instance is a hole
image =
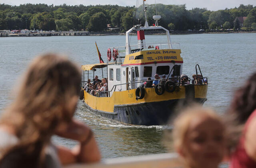
[[[193,102],[204,104],[206,98],[195,98]],[[189,101],[191,102],[191,100]],[[145,102],[140,104],[114,105],[114,112],[106,112],[91,108],[91,111],[105,118],[113,119],[127,125],[164,125],[175,116],[179,106],[188,105],[186,99]]]

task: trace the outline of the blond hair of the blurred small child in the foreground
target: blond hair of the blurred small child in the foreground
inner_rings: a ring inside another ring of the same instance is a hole
[[[207,116],[222,123],[220,116],[217,115],[212,109],[202,108],[198,105],[195,107],[188,107],[174,120],[172,138],[175,149],[181,148],[184,144],[185,136],[192,119],[200,116]]]

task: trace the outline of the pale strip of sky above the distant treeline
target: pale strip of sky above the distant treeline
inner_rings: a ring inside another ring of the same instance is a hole
[[[142,0],[138,0],[142,4]],[[0,0],[0,4],[20,5],[20,4],[67,4],[67,5],[119,5],[119,6],[136,6],[136,0]],[[154,4],[155,0],[146,0],[147,4]],[[225,8],[239,7],[240,4],[251,4],[256,6],[256,0],[156,0],[156,3],[161,4],[186,4],[186,8],[207,8],[208,10],[224,10]],[[140,5],[139,4],[139,5]]]

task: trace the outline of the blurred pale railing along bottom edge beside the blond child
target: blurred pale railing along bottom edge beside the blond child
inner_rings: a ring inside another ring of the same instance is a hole
[[[97,164],[73,164],[64,168],[182,168],[176,153],[109,158]]]

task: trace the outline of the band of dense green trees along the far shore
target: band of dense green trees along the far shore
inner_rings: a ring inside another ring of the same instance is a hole
[[[206,8],[187,10],[184,5],[147,5],[148,23],[152,25],[153,15],[162,16],[159,25],[174,30],[187,29],[215,29],[216,27],[240,28],[236,17],[246,16],[244,26],[256,29],[256,6],[241,4],[238,8],[210,11]],[[97,6],[68,6],[66,4],[54,6],[47,4],[23,4],[10,6],[0,4],[0,29],[42,29],[42,30],[88,30],[105,31],[107,25],[119,27],[126,31],[138,19],[144,23],[143,7],[123,7],[118,5]],[[134,17],[136,13],[136,18]]]

